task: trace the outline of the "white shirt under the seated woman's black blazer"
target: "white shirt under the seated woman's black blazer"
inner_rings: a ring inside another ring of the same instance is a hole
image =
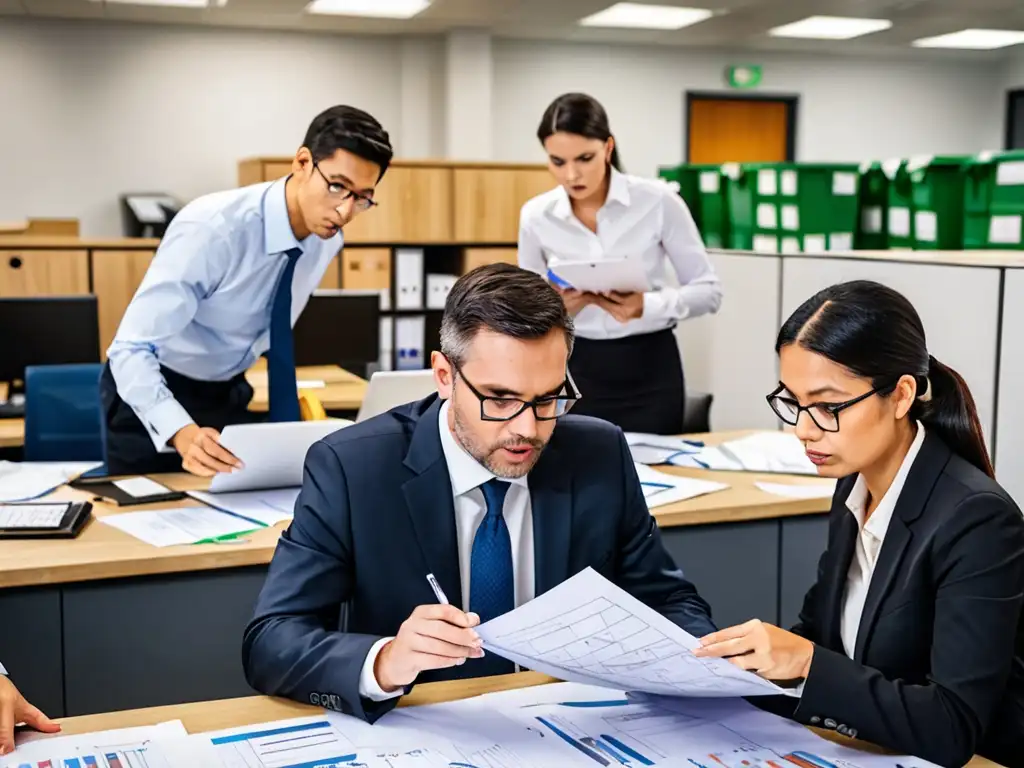
[[[892,520],[896,502],[899,501],[900,494],[903,493],[906,476],[910,472],[913,460],[918,458],[924,441],[925,427],[921,422],[918,422],[918,435],[910,443],[910,450],[906,452],[903,463],[900,464],[889,489],[866,521],[864,520],[864,512],[867,507],[868,494],[867,483],[864,482],[863,475],[857,477],[850,496],[847,497],[846,506],[856,518],[857,526],[860,528],[853,551],[853,559],[850,561],[850,570],[847,571],[843,612],[840,618],[843,648],[850,658],[853,658],[854,648],[857,646],[857,632],[860,629],[860,616],[864,612],[864,600],[867,599],[867,590],[871,586],[871,575],[874,573],[874,565],[879,560],[879,553],[882,551],[882,543],[889,529],[889,521]]]

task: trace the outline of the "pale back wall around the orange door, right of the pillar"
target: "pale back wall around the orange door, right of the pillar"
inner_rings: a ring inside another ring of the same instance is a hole
[[[627,170],[682,162],[686,90],[725,91],[730,63],[764,66],[758,92],[799,94],[797,160],[855,161],[990,148],[994,65],[880,61],[668,48],[495,41],[495,152],[541,158],[535,137],[547,104],[582,90],[609,113]]]

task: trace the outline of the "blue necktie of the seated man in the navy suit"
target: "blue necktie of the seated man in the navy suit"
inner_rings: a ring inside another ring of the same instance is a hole
[[[498,478],[480,486],[487,513],[476,529],[469,565],[469,609],[479,614],[480,624],[515,608],[515,581],[512,572],[512,539],[502,509],[509,484]],[[494,653],[467,662],[474,676],[507,675],[515,665]]]

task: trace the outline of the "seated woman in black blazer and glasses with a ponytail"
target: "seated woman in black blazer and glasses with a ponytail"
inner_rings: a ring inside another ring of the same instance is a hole
[[[798,685],[800,722],[943,766],[1024,766],[1024,518],[967,384],[877,283],[818,293],[776,351],[769,402],[842,478],[827,549],[790,632],[748,622],[696,653]]]

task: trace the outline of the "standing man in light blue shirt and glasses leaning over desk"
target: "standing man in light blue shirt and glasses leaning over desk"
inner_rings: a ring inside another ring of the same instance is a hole
[[[245,372],[264,352],[270,420],[300,418],[292,327],[341,250],[342,228],[376,205],[391,158],[380,123],[333,106],[310,124],[289,176],[181,209],[108,350],[111,474],[241,466],[220,430],[255,420]]]

